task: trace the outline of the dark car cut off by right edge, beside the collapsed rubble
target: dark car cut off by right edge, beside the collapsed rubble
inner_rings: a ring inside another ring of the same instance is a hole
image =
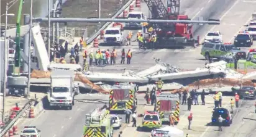
[[[239,89],[238,94],[241,99],[254,99],[256,96],[256,89],[254,88],[254,86],[242,86]]]

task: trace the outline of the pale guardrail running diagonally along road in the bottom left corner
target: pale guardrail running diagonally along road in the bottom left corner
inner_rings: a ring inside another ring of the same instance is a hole
[[[14,125],[14,123],[17,122],[17,120],[24,114],[24,112],[27,109],[29,109],[32,101],[34,101],[34,100],[33,99],[29,100],[29,102],[27,102],[27,104],[25,104],[25,106],[22,107],[22,110],[18,112],[16,117],[13,120],[9,120],[7,122],[7,124],[4,125],[4,127],[2,128],[2,131],[1,131],[1,136],[4,136],[7,133],[7,131]]]

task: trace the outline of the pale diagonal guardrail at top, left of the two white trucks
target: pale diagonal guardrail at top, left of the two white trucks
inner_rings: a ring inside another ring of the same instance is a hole
[[[122,13],[123,10],[125,10],[128,6],[130,6],[130,4],[133,2],[134,0],[129,0],[124,6],[121,7],[121,9],[119,9],[115,15],[112,16],[112,19],[115,19],[119,14]],[[91,38],[89,38],[86,41],[86,45],[90,44],[91,42],[93,42],[93,40],[95,38],[97,38],[97,36],[99,36],[99,34],[101,33],[102,30],[104,30],[109,24],[111,24],[111,22],[106,22],[103,27],[99,28],[99,30],[94,33],[93,36],[91,36]]]

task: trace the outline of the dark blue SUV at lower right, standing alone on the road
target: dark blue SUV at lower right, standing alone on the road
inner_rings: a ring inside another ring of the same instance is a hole
[[[229,110],[227,110],[225,108],[216,108],[216,109],[213,110],[213,115],[211,117],[212,125],[217,125],[219,115],[221,115],[221,117],[225,119],[222,122],[223,125],[226,125],[226,126],[231,125],[232,120],[233,120],[232,115],[230,114]]]

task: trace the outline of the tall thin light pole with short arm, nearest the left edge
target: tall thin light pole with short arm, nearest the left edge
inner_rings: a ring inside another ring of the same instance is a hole
[[[2,122],[4,122],[4,111],[5,111],[5,101],[6,101],[6,82],[7,82],[7,64],[8,64],[8,54],[9,54],[9,44],[7,44],[7,19],[8,16],[14,16],[14,14],[8,14],[8,5],[9,3],[6,3],[6,25],[5,25],[5,32],[4,32],[4,96],[2,98]]]

